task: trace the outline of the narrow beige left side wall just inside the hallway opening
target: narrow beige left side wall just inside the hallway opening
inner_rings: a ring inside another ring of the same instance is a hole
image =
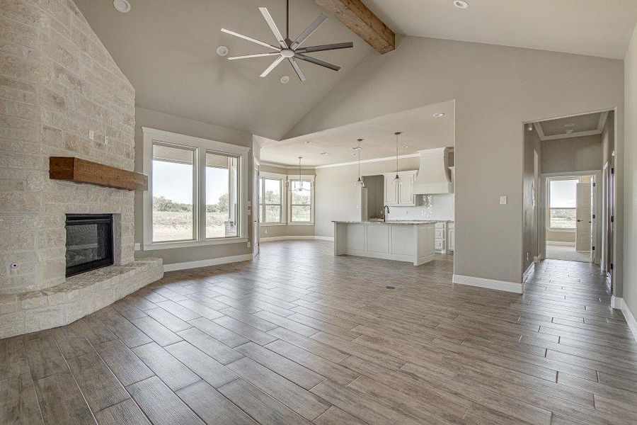
[[[537,170],[535,162],[537,157]],[[541,168],[542,144],[539,135],[533,128],[531,131],[524,126],[524,188],[523,205],[524,214],[522,237],[522,271],[527,270],[533,263],[534,257],[539,255],[538,226],[536,205],[539,203],[539,175]]]

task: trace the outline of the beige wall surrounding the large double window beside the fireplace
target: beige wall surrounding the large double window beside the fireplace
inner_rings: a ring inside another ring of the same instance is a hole
[[[199,121],[150,111],[149,109],[144,108],[135,108],[135,118],[137,120],[137,126],[135,127],[135,169],[137,171],[142,171],[142,161],[144,158],[144,137],[142,134],[142,127],[176,132],[180,135],[201,137],[203,139],[215,140],[217,142],[232,143],[234,145],[250,147],[251,151],[249,157],[252,157],[253,137],[247,133],[219,127],[218,125],[200,123]],[[244,166],[248,167],[248,176],[252,179],[252,164],[244,164]],[[252,200],[252,180],[247,187],[248,193],[246,193],[246,196],[243,199],[243,208],[247,208],[247,201]],[[142,242],[142,229],[144,228],[144,210],[142,200],[142,193],[137,193],[135,196],[135,242],[137,243]],[[246,227],[246,236],[252,239],[251,217],[248,217]],[[241,242],[236,244],[194,246],[190,248],[154,249],[151,251],[138,251],[137,255],[159,256],[163,259],[164,264],[173,264],[237,256],[250,254],[251,252],[252,249],[248,248],[248,244]]]

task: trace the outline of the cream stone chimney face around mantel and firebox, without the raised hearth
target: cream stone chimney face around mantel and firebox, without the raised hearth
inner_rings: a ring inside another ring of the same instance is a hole
[[[130,263],[133,193],[48,171],[54,156],[132,170],[133,87],[73,1],[1,1],[0,16],[0,293],[66,280],[67,213],[118,214]]]

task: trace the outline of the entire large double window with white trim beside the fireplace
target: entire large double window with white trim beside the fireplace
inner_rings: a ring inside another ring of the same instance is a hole
[[[243,237],[241,164],[249,148],[143,128],[144,249],[234,243]]]

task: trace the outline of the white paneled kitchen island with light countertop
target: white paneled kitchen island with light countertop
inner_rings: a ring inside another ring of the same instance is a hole
[[[334,255],[408,261],[414,266],[435,258],[435,222],[333,223]]]

